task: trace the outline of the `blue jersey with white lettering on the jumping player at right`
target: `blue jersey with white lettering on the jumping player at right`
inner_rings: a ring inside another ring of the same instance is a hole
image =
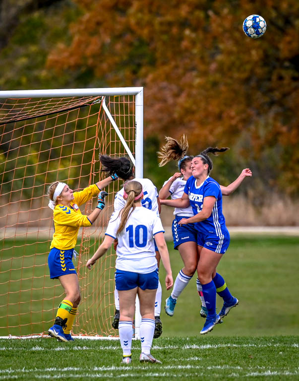
[[[184,192],[188,194],[194,215],[201,212],[204,197],[214,196],[216,198],[210,217],[204,221],[196,222],[195,228],[206,235],[222,236],[227,228],[222,214],[222,193],[217,181],[208,176],[202,184],[197,186],[196,179],[191,176],[187,180]]]

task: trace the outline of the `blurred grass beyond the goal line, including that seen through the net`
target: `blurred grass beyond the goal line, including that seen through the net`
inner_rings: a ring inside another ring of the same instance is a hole
[[[1,244],[1,247],[2,245],[3,248],[11,248],[13,243],[6,241]],[[50,280],[48,276],[49,243],[36,244],[29,241],[25,245],[22,241],[15,241],[14,245],[18,247],[0,252],[0,294],[2,294],[0,305],[3,306],[0,306],[0,327],[3,327],[0,328],[0,336],[47,331],[49,324],[52,325],[56,309],[63,297],[59,282]],[[175,278],[182,267],[182,261],[179,252],[172,249],[173,245],[169,243],[168,246]],[[218,266],[218,272],[224,276],[228,287],[240,303],[224,319],[223,324],[214,328],[212,335],[299,335],[298,253],[299,237],[232,237],[230,248]],[[85,270],[81,272],[84,276],[81,281],[83,298],[79,310],[84,312],[85,307],[90,303],[92,314],[82,316],[79,322],[85,324],[88,320],[86,329],[92,329],[96,321],[98,326],[101,323],[106,327],[106,331],[110,330],[109,333],[115,334],[117,332],[110,325],[110,316],[114,312],[114,268],[113,261],[109,258],[105,260],[111,267],[110,281],[98,284],[95,269],[86,273],[84,273]],[[160,280],[163,287],[161,312],[163,337],[197,336],[204,320],[199,317],[200,304],[196,291],[196,276],[179,298],[173,317],[167,316],[163,309],[164,301],[170,292],[165,291],[162,265]],[[87,285],[89,285],[88,290]],[[23,291],[20,292],[20,289]],[[85,297],[86,295],[90,296]],[[106,295],[106,299],[103,295]],[[100,316],[104,299],[110,307]],[[218,298],[217,308],[221,307],[222,301]],[[23,324],[21,328],[20,324]],[[16,327],[8,330],[5,328],[7,325]],[[79,332],[77,327],[74,331]],[[100,333],[98,330],[95,332]]]

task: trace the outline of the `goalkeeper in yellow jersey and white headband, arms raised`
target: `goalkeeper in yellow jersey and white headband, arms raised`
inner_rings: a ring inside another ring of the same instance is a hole
[[[101,190],[117,178],[117,175],[111,175],[79,192],[73,192],[67,184],[60,182],[55,182],[49,187],[49,207],[53,209],[55,230],[48,257],[50,278],[60,280],[65,298],[60,303],[55,323],[49,328],[48,333],[60,341],[73,341],[70,330],[81,299],[78,277],[72,262],[79,227],[91,226],[97,219],[104,209],[105,196],[108,195],[106,191]],[[97,207],[89,216],[82,215],[79,206],[96,195]]]

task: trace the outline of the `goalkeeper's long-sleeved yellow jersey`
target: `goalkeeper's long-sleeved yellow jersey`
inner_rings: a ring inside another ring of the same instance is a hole
[[[68,250],[76,246],[79,227],[92,225],[88,217],[81,213],[79,206],[98,195],[100,191],[94,184],[83,191],[74,192],[70,207],[61,204],[55,206],[54,234],[50,249]]]

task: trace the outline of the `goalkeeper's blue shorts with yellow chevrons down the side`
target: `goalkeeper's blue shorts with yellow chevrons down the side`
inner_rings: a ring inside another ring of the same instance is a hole
[[[50,254],[48,256],[48,265],[50,269],[51,279],[58,278],[61,275],[77,273],[72,262],[73,252],[74,249],[51,249]]]

